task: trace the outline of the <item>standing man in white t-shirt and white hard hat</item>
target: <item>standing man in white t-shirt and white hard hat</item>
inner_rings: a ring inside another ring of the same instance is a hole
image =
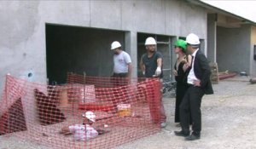
[[[112,77],[131,77],[131,57],[125,51],[122,50],[121,44],[118,41],[114,41],[111,44],[111,50],[113,51],[113,76]],[[124,80],[116,79],[114,81],[115,86],[122,85]]]

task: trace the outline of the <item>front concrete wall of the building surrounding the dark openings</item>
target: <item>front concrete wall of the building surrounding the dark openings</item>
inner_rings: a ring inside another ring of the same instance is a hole
[[[134,70],[137,32],[207,38],[205,9],[180,0],[1,1],[0,6],[1,90],[8,72],[26,77],[32,71],[34,81],[46,83],[46,23],[130,32],[125,43],[135,57]]]

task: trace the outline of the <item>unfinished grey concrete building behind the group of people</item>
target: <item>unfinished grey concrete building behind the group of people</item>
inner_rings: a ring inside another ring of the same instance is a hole
[[[131,54],[133,77],[141,75],[146,37],[155,37],[172,79],[173,43],[194,32],[201,50],[220,71],[256,74],[253,22],[191,0],[4,1],[0,16],[0,84],[4,76],[65,83],[67,72],[111,76],[110,44]],[[234,28],[235,27],[235,28]],[[242,39],[242,40],[241,40]],[[230,52],[232,51],[232,52]],[[239,61],[236,61],[239,60]]]

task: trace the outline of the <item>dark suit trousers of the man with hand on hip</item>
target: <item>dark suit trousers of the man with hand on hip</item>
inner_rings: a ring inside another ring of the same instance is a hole
[[[192,130],[195,135],[201,133],[201,98],[204,91],[200,87],[189,85],[179,106],[180,123],[184,132],[189,132],[189,115],[192,117]]]

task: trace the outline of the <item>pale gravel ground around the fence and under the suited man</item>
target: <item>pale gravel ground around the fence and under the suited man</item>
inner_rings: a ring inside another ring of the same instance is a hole
[[[186,141],[173,134],[174,98],[165,98],[168,125],[160,133],[115,149],[256,149],[256,84],[233,77],[213,85],[214,95],[201,103],[201,140]],[[49,149],[13,136],[0,136],[0,149]]]

